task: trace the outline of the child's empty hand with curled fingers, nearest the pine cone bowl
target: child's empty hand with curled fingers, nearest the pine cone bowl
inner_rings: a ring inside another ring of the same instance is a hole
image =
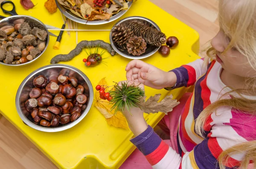
[[[164,72],[163,70],[141,60],[132,60],[128,63],[125,70],[127,71],[127,80],[132,82],[137,80],[138,82],[154,89],[172,87],[177,81],[175,73]]]

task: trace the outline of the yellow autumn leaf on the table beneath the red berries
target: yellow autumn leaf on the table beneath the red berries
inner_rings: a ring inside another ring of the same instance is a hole
[[[105,78],[99,81],[99,85],[104,85],[105,88],[108,86]],[[115,127],[123,129],[129,129],[126,119],[122,115],[122,113],[117,112],[116,115],[114,115],[114,110],[111,111],[111,105],[109,104],[109,101],[101,99],[99,97],[99,91],[95,92],[95,97],[96,103],[94,103],[94,106],[99,110],[99,112],[102,113],[102,115],[104,115],[108,125],[113,125]]]

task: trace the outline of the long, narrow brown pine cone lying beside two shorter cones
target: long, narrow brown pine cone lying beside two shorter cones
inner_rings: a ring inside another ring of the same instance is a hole
[[[134,35],[141,36],[150,45],[162,46],[162,44],[166,43],[166,35],[154,27],[139,22],[132,22],[128,25],[128,28],[131,29]]]

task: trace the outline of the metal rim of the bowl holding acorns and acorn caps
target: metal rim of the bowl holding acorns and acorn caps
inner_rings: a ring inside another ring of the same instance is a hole
[[[0,64],[6,65],[6,66],[24,66],[24,65],[28,65],[28,64],[34,62],[35,60],[37,60],[46,51],[47,46],[49,44],[49,31],[48,31],[47,27],[44,25],[44,23],[42,23],[40,20],[36,19],[35,17],[31,17],[31,16],[28,16],[28,15],[14,15],[14,16],[6,17],[6,18],[0,20],[0,23],[4,22],[4,21],[6,21],[6,20],[8,20],[10,18],[15,18],[15,17],[17,17],[17,18],[19,18],[19,17],[29,17],[30,19],[35,20],[38,23],[40,23],[45,28],[45,30],[47,32],[47,41],[45,43],[44,50],[35,59],[33,59],[33,60],[29,61],[29,62],[26,62],[26,63],[18,64],[18,65],[6,64],[6,63],[3,63],[3,62],[0,61]]]

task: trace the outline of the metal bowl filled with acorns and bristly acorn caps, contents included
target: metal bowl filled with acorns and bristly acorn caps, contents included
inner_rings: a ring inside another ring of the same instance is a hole
[[[0,21],[0,64],[32,63],[44,53],[48,43],[47,27],[34,17],[15,15]]]

